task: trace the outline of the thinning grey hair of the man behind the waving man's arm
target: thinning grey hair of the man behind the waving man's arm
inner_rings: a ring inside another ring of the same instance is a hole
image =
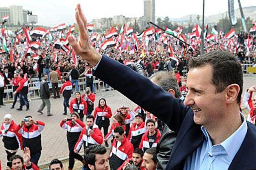
[[[174,97],[180,99],[180,87],[173,73],[168,71],[159,71],[153,74],[149,79],[154,80],[154,82],[162,87],[166,92],[168,92],[170,89],[174,90]]]

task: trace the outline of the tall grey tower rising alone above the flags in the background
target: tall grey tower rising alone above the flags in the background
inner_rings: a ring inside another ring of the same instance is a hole
[[[147,22],[155,22],[155,0],[144,0],[144,18]]]

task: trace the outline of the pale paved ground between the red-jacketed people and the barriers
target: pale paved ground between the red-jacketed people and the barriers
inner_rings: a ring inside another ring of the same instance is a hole
[[[256,85],[256,77],[255,76],[245,76],[244,77],[244,91],[246,88],[249,88],[252,85]],[[73,96],[74,97],[74,96]],[[107,104],[111,107],[112,112],[114,112],[118,107],[125,105],[132,109],[136,107],[136,105],[124,97],[117,91],[109,91],[109,92],[99,92],[96,94],[96,105],[101,97],[106,98]],[[19,123],[22,118],[26,115],[32,115],[36,120],[41,120],[45,122],[45,128],[42,132],[42,155],[39,160],[39,164],[48,162],[53,158],[63,158],[68,156],[68,144],[66,139],[66,130],[60,128],[59,122],[65,116],[63,113],[63,98],[60,99],[51,99],[52,104],[52,114],[54,116],[47,117],[46,114],[39,115],[36,111],[41,104],[41,100],[35,100],[30,102],[30,110],[29,111],[21,111],[18,112],[14,109],[10,109],[11,104],[7,104],[0,108],[0,121],[3,120],[3,116],[7,113],[12,114],[14,121]],[[16,105],[18,107],[18,105]],[[44,109],[46,112],[46,108]],[[0,142],[0,160],[2,166],[6,165],[6,154],[4,152],[3,143]],[[80,151],[83,153],[83,151]],[[18,153],[21,153],[20,151]]]

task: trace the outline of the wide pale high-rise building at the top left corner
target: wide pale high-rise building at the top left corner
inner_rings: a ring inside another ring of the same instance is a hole
[[[2,21],[2,17],[5,15],[9,15],[9,20],[7,21],[7,25],[22,25],[28,24],[28,10],[23,10],[22,6],[12,5],[8,7],[0,8],[0,22]]]

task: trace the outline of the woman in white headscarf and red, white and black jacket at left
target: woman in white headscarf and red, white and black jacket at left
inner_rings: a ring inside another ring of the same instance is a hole
[[[12,120],[12,115],[4,115],[4,122],[1,125],[0,137],[3,137],[7,160],[16,154],[18,149],[22,150],[22,137],[17,131],[18,125]]]

